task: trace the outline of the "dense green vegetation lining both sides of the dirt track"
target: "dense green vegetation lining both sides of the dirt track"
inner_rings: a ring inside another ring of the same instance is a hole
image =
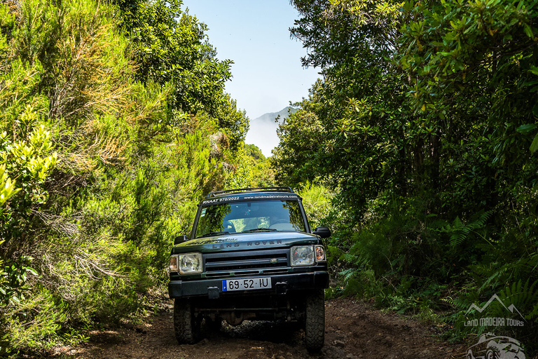
[[[265,158],[181,1],[1,1],[0,356],[151,311],[200,197],[275,176],[333,229],[337,294],[462,339],[497,293],[537,350],[538,5],[292,3],[323,78]]]

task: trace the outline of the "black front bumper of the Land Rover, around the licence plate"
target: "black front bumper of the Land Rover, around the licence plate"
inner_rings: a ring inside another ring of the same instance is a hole
[[[255,278],[244,276],[240,279]],[[180,297],[209,297],[218,299],[221,295],[249,295],[249,294],[286,294],[288,290],[314,290],[329,287],[329,273],[326,271],[315,271],[309,273],[289,273],[273,275],[271,278],[271,288],[263,290],[244,290],[240,292],[223,292],[223,279],[204,280],[171,280],[168,283],[168,294],[170,298]],[[228,278],[230,279],[230,278]],[[238,278],[239,279],[239,278]]]

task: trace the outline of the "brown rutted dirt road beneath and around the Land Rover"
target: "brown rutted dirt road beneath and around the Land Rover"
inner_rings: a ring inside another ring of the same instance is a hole
[[[56,358],[464,358],[465,348],[433,337],[429,328],[395,314],[381,313],[352,299],[326,302],[326,339],[321,353],[310,355],[302,332],[290,323],[245,322],[223,325],[198,344],[179,346],[172,330],[172,307],[148,323],[92,332],[81,348],[60,348]]]

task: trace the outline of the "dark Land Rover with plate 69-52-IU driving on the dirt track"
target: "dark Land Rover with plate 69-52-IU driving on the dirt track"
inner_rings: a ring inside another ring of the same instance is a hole
[[[311,231],[290,188],[210,193],[191,236],[177,237],[170,256],[177,341],[198,341],[202,321],[294,320],[303,323],[308,350],[322,348],[329,285],[322,238],[329,236],[326,227]]]

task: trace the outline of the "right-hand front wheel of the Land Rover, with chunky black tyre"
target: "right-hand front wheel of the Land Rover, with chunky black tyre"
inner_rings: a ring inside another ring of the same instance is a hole
[[[325,341],[324,291],[308,294],[305,306],[305,346],[308,351],[319,351]]]

